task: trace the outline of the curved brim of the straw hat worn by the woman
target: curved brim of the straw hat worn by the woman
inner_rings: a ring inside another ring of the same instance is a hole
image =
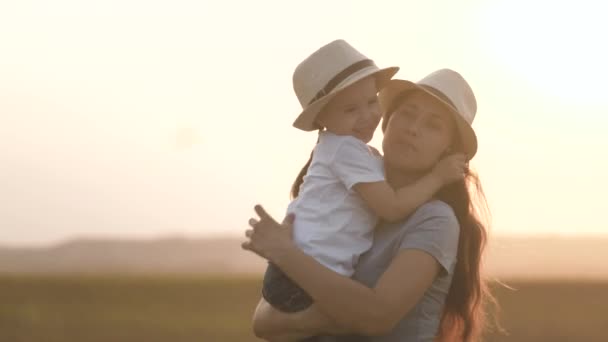
[[[380,91],[378,96],[380,107],[383,111],[388,110],[388,108],[390,108],[392,104],[403,95],[403,92],[409,90],[418,90],[431,95],[450,112],[454,118],[454,122],[456,123],[458,134],[460,135],[460,142],[464,150],[463,152],[467,155],[467,159],[472,159],[477,153],[477,135],[475,134],[473,127],[471,127],[471,125],[458,113],[454,106],[428,89],[410,81],[391,80],[386,87]]]

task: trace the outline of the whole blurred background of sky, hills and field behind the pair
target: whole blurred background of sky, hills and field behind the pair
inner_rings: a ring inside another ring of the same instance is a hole
[[[316,141],[291,126],[293,69],[342,38],[397,78],[447,67],[475,90],[506,331],[488,340],[605,341],[603,13],[0,0],[0,340],[255,340],[265,265],[241,236],[254,204],[283,215]]]

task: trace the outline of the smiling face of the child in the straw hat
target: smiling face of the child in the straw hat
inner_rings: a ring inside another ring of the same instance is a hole
[[[337,135],[350,135],[368,143],[380,122],[376,82],[364,78],[336,95],[323,108],[317,123]]]

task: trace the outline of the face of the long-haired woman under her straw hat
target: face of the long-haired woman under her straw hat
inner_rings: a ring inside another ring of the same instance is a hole
[[[455,123],[448,109],[433,96],[415,91],[390,116],[382,149],[387,166],[424,172],[449,153]]]

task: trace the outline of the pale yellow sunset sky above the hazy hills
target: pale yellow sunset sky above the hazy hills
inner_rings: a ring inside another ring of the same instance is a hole
[[[459,71],[495,234],[608,233],[601,1],[0,2],[0,245],[240,235],[316,141],[291,76],[343,38]],[[378,131],[372,145],[380,146]]]

